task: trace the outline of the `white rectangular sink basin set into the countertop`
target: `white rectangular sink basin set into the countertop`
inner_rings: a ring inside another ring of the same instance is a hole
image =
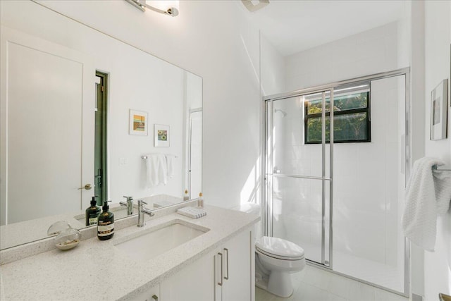
[[[195,228],[194,228],[195,227]],[[116,247],[138,260],[149,260],[209,231],[208,228],[173,221],[163,228],[149,229],[139,236],[118,242]]]

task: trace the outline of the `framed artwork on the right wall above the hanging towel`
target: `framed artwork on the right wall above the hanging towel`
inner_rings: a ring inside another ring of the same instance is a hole
[[[446,139],[448,80],[442,80],[431,92],[431,140]]]

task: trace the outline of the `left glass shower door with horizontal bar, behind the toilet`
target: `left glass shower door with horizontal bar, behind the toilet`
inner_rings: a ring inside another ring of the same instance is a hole
[[[312,99],[319,119],[306,123]],[[295,242],[323,266],[331,261],[329,105],[330,91],[266,102],[268,233]],[[309,143],[311,137],[319,141]]]

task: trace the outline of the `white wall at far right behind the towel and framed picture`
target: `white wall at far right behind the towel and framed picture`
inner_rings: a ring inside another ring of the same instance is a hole
[[[425,146],[426,156],[434,156],[451,164],[451,109],[447,104],[447,139],[429,140],[431,123],[431,91],[450,78],[451,2],[424,1],[425,7]],[[448,87],[449,89],[450,87]],[[448,99],[450,90],[448,90]],[[451,211],[439,216],[435,252],[424,255],[424,287],[427,301],[437,300],[438,293],[451,295]]]

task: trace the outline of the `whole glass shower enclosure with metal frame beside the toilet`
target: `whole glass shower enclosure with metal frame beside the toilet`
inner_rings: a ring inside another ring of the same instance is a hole
[[[409,69],[264,97],[264,111],[266,233],[310,264],[407,295]]]

